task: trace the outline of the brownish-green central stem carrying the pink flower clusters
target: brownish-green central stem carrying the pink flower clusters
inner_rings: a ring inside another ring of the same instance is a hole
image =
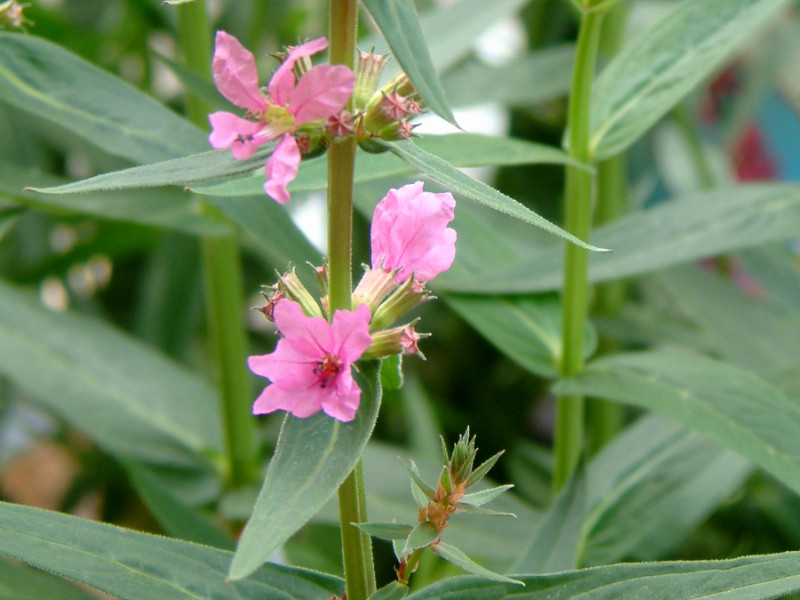
[[[357,0],[331,0],[330,62],[351,69],[355,62],[358,24]],[[349,108],[352,108],[350,106]],[[353,173],[356,143],[346,139],[328,150],[328,306],[329,314],[351,308],[353,290]],[[367,520],[361,461],[339,488],[347,600],[366,600],[375,593],[372,540],[353,526]]]

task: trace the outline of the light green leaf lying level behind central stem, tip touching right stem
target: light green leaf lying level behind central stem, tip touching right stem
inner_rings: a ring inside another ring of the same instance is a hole
[[[552,146],[472,133],[428,135],[416,140],[423,150],[436,154],[459,167],[520,164],[579,164],[566,152]],[[155,166],[154,166],[155,168]],[[355,181],[364,183],[386,177],[406,175],[418,169],[390,152],[360,153],[356,160]],[[326,156],[300,163],[297,178],[289,191],[300,192],[325,189],[328,185]],[[183,184],[183,183],[182,183]],[[264,172],[230,182],[192,186],[192,190],[211,196],[249,196],[264,194]]]

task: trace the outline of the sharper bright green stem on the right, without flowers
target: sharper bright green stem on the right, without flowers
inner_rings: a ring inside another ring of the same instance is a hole
[[[589,136],[590,102],[594,63],[600,39],[602,14],[584,11],[578,34],[575,71],[569,104],[569,152],[581,163],[591,160]],[[589,239],[592,223],[594,179],[585,168],[567,167],[566,229],[581,240]],[[564,261],[562,298],[562,356],[560,374],[570,377],[583,368],[583,334],[588,310],[588,253],[574,244],[567,244]],[[582,396],[561,396],[558,399],[555,430],[556,490],[569,479],[583,448],[584,400]]]

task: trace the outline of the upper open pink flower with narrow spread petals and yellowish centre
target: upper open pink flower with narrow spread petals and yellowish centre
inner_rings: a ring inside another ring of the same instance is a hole
[[[252,53],[224,31],[217,32],[215,43],[212,71],[217,89],[255,121],[225,111],[211,113],[208,140],[217,149],[230,147],[233,157],[242,160],[264,142],[281,138],[266,163],[264,191],[286,204],[286,186],[300,164],[292,134],[300,125],[340,113],[353,93],[355,75],[341,65],[317,65],[295,81],[295,63],[328,47],[325,38],[318,38],[290,50],[269,82],[269,95],[264,95]]]

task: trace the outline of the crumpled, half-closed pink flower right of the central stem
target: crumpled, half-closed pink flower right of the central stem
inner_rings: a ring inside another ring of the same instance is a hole
[[[418,181],[389,190],[372,216],[372,268],[394,271],[403,282],[412,273],[419,282],[430,281],[450,268],[456,256],[453,220],[456,201],[449,193],[422,191]]]

